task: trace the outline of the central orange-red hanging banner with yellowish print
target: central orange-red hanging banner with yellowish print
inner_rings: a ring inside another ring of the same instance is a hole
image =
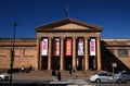
[[[72,56],[72,38],[66,39],[65,48],[65,56]]]

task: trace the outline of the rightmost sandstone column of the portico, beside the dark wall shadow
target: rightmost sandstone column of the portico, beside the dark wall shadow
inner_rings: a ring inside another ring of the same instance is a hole
[[[98,37],[96,39],[96,45],[98,45],[98,70],[100,71],[102,69],[102,63],[101,63],[101,38]]]

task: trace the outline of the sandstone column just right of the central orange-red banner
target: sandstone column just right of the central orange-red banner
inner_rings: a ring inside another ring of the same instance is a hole
[[[76,70],[76,37],[73,37],[73,70]]]

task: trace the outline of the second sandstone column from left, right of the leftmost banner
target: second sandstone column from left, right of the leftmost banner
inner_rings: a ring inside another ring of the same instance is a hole
[[[48,53],[48,70],[51,70],[51,58],[52,58],[52,37],[49,37],[49,53]]]

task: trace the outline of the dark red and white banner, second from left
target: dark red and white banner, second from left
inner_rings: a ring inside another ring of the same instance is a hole
[[[60,56],[60,39],[58,38],[54,39],[53,56]]]

